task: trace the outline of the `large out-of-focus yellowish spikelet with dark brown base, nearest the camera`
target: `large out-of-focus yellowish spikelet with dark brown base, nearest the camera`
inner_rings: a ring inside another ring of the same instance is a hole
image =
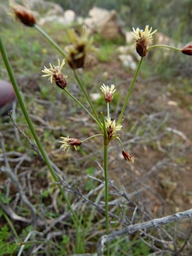
[[[85,26],[83,26],[81,37],[75,33],[74,29],[68,30],[68,36],[71,45],[66,47],[68,51],[67,62],[72,69],[78,69],[84,66],[87,53],[95,50],[92,46],[93,38],[90,37]]]

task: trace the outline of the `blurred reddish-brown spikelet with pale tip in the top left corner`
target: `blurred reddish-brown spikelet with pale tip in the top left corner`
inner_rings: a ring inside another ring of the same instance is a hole
[[[32,11],[28,10],[22,5],[17,5],[17,3],[13,3],[13,1],[10,3],[10,6],[11,12],[15,16],[15,19],[18,19],[19,21],[21,21],[21,23],[28,27],[33,27],[35,25],[37,21]]]

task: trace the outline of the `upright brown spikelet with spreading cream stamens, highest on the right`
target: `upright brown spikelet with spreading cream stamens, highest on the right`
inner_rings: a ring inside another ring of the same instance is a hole
[[[152,27],[149,29],[149,25],[145,26],[145,31],[143,31],[143,29],[139,29],[139,27],[135,30],[133,27],[133,32],[131,34],[136,39],[136,51],[141,57],[145,57],[147,55],[147,45],[153,39],[152,35],[157,31],[157,29],[153,32],[151,31]]]

